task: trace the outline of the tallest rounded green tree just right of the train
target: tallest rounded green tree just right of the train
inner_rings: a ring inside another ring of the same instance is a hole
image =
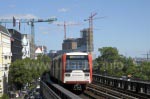
[[[96,62],[98,64],[98,69],[100,70],[100,73],[109,73],[112,74],[114,70],[114,62],[117,62],[119,58],[118,50],[115,47],[103,47],[98,49],[100,52],[100,55],[98,58],[96,58]]]

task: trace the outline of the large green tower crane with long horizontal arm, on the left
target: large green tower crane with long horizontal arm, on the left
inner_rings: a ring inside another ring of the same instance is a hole
[[[20,24],[21,23],[27,23],[28,25],[31,26],[31,53],[34,53],[35,50],[35,33],[34,33],[34,23],[38,22],[49,22],[52,23],[53,21],[56,21],[56,18],[49,18],[49,19],[16,19],[14,16],[12,19],[0,19],[0,24],[1,23],[13,23],[13,27],[16,26],[16,21],[19,23],[19,30],[20,30]],[[33,57],[34,58],[34,54]]]

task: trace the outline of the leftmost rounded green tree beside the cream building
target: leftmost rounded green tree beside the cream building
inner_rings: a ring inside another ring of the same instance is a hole
[[[9,81],[12,82],[18,89],[21,89],[24,84],[31,82],[31,70],[28,67],[26,60],[17,60],[11,64],[9,75]]]

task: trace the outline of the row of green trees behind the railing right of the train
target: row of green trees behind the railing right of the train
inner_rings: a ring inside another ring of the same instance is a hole
[[[96,73],[117,77],[131,75],[135,79],[150,80],[150,62],[143,62],[137,66],[131,57],[119,55],[115,47],[103,47],[98,50],[101,56],[94,61],[96,66],[93,68],[97,69]]]

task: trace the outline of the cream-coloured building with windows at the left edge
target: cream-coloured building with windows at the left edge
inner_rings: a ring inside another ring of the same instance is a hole
[[[8,30],[0,25],[0,96],[7,92],[8,71],[11,64],[11,39]]]

